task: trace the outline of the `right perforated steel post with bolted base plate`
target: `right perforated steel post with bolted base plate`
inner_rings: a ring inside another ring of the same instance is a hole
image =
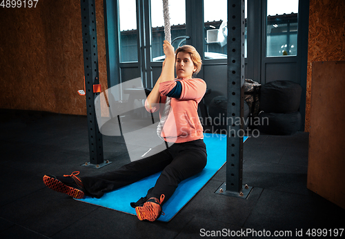
[[[219,194],[247,198],[252,187],[242,185],[244,107],[244,0],[228,0],[228,107],[226,182]],[[224,189],[226,189],[224,191]]]

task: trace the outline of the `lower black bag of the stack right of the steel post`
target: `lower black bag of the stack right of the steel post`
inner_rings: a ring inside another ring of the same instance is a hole
[[[301,114],[261,112],[258,116],[257,129],[260,133],[273,135],[293,135],[301,127]]]

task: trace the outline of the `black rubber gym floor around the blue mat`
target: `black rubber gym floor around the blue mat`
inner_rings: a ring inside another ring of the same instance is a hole
[[[305,238],[308,229],[344,228],[345,210],[306,188],[308,133],[248,138],[248,199],[215,194],[226,180],[224,166],[166,223],[77,202],[43,185],[44,174],[99,174],[129,163],[121,137],[103,136],[104,158],[113,163],[93,169],[81,166],[89,161],[86,116],[0,110],[0,123],[1,238],[295,238],[301,230]]]

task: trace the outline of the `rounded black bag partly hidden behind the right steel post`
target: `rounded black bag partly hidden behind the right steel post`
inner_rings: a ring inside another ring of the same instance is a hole
[[[215,129],[226,129],[226,111],[228,107],[228,100],[225,96],[216,96],[208,105],[208,115],[211,118],[211,125],[215,127]],[[244,121],[247,123],[244,125],[244,129],[248,126],[248,115],[250,113],[250,109],[246,101],[244,101]],[[237,118],[235,121],[238,121]]]

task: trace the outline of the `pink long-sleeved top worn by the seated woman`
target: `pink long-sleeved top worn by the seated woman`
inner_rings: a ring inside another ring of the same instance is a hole
[[[166,94],[175,87],[176,81],[179,81],[182,85],[181,96],[179,98],[171,98],[171,110],[164,124],[161,136],[164,137],[165,141],[175,143],[184,143],[204,138],[204,129],[201,126],[197,114],[197,105],[201,101],[201,98],[204,97],[206,83],[201,79],[175,79],[175,81],[160,83],[160,103],[166,102]],[[159,110],[159,106],[152,107],[150,110],[147,101],[145,107],[148,112]]]

